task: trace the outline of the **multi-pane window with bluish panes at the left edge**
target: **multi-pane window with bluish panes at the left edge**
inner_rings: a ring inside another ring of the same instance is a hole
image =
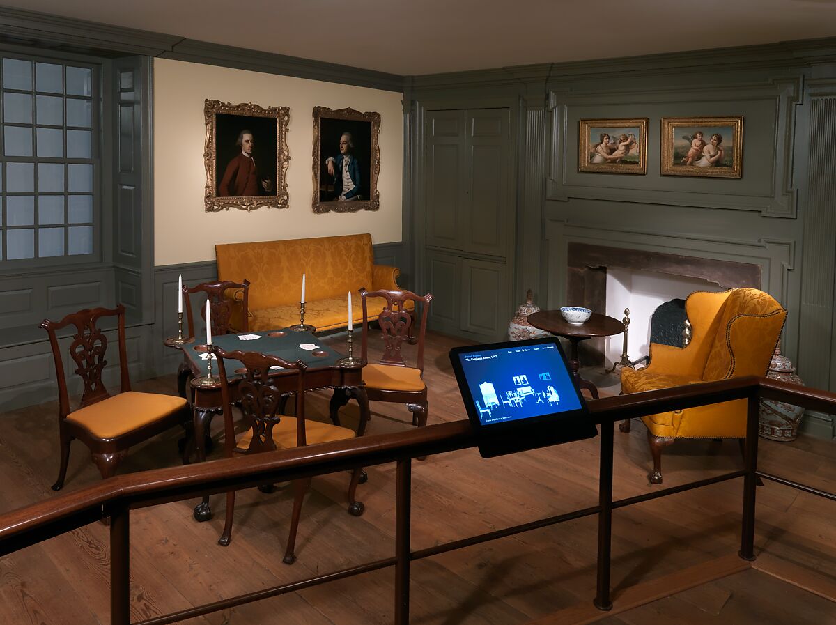
[[[94,252],[93,66],[2,57],[0,262]]]

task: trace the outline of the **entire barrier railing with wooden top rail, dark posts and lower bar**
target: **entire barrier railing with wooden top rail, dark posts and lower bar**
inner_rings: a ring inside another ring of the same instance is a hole
[[[599,436],[599,504],[584,510],[504,528],[479,536],[470,536],[436,546],[437,552],[494,540],[499,536],[528,531],[534,527],[553,525],[571,518],[598,515],[598,564],[594,605],[601,610],[612,607],[609,587],[612,512],[615,507],[630,506],[674,492],[691,490],[723,480],[743,478],[743,515],[739,556],[754,560],[756,481],[762,475],[769,480],[836,501],[836,494],[757,470],[757,427],[759,400],[777,399],[805,408],[836,413],[836,394],[785,384],[775,380],[748,377],[717,382],[690,384],[640,394],[599,399],[589,402],[591,419],[602,425]],[[715,475],[706,480],[679,485],[628,500],[613,501],[613,427],[614,421],[636,418],[692,406],[715,404],[734,399],[747,402],[746,465],[742,471]],[[358,575],[383,567],[395,567],[395,622],[409,622],[410,561],[431,555],[410,549],[410,466],[421,455],[434,455],[477,445],[466,420],[431,425],[400,434],[380,434],[358,439],[335,441],[323,445],[299,447],[239,458],[216,460],[171,469],[151,470],[120,475],[75,492],[58,495],[48,501],[25,506],[0,515],[0,556],[58,536],[92,521],[110,517],[110,621],[113,625],[130,624],[130,510],[154,506],[167,501],[181,501],[195,495],[237,490],[265,482],[295,480],[353,469],[358,466],[397,462],[395,493],[395,557],[369,562],[359,567],[330,572],[303,582],[293,582],[228,597],[219,602],[171,612],[141,622],[141,625],[164,625],[185,618],[201,616],[225,607],[293,592],[334,579]],[[431,550],[432,551],[432,550]],[[301,586],[300,586],[301,583]],[[140,625],[140,624],[138,624]]]

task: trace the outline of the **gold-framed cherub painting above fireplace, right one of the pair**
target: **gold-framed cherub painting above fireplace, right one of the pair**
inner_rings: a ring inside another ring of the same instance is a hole
[[[663,117],[661,128],[662,175],[742,177],[742,115]]]

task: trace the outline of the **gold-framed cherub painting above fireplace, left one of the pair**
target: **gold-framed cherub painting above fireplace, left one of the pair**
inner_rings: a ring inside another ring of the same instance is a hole
[[[580,119],[578,171],[647,173],[647,118]]]

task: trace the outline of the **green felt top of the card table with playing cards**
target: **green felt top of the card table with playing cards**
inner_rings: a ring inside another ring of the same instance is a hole
[[[258,338],[243,341],[239,336],[257,335]],[[271,336],[273,335],[273,336]],[[225,352],[234,352],[240,350],[242,352],[259,352],[266,353],[270,356],[278,356],[288,362],[295,363],[297,360],[303,361],[310,368],[325,368],[334,367],[340,358],[344,358],[344,354],[329,348],[324,345],[319,338],[315,337],[309,332],[293,332],[290,330],[268,330],[267,332],[250,332],[243,334],[222,334],[221,336],[212,337],[213,344],[222,348]],[[307,350],[299,347],[300,345],[316,345],[313,350]],[[204,359],[201,356],[205,353],[205,345],[201,343],[191,343],[183,346],[183,352],[189,358],[197,371],[201,374],[206,374],[208,367],[208,358]],[[325,353],[324,355],[314,355],[314,353]],[[232,377],[232,372],[237,368],[242,368],[243,363],[237,360],[227,360],[225,362],[227,367],[227,375]],[[212,373],[217,375],[217,363],[212,365]]]

